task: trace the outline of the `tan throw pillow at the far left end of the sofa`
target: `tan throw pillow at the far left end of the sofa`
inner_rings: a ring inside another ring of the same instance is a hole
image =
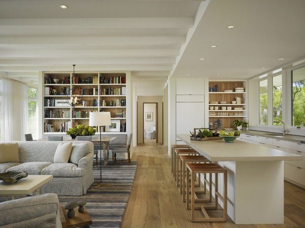
[[[19,162],[18,143],[0,143],[0,163]]]

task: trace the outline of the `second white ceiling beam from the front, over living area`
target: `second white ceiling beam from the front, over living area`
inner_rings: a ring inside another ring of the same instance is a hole
[[[0,37],[0,45],[176,45],[183,44],[183,36],[128,36],[128,37]],[[0,46],[1,47],[1,46]]]

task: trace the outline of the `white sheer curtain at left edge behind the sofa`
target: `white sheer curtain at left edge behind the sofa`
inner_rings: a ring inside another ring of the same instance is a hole
[[[1,78],[1,141],[24,140],[28,122],[27,84]]]

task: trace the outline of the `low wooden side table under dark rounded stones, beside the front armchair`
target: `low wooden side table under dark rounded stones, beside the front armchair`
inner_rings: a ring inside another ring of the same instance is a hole
[[[74,208],[75,216],[73,218],[67,217],[67,211],[63,205],[60,207],[60,221],[62,221],[63,228],[76,228],[92,224],[92,218],[85,207],[83,213],[78,212],[78,207]]]

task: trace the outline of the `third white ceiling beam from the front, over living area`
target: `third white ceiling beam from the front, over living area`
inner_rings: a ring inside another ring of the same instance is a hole
[[[52,57],[170,57],[177,56],[177,49],[128,49],[128,50],[1,50],[0,58],[52,58]]]

